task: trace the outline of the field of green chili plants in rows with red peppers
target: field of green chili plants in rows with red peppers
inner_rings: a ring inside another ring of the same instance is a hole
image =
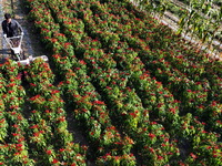
[[[50,61],[0,65],[0,165],[222,165],[221,61],[127,0],[22,3]]]

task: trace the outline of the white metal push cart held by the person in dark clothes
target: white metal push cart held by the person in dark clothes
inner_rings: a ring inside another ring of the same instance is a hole
[[[23,33],[20,35],[17,35],[17,37],[4,38],[4,39],[11,49],[12,59],[16,60],[17,63],[27,65],[27,64],[30,64],[30,62],[32,62],[33,60],[36,60],[38,58],[42,59],[46,62],[49,60],[47,55],[40,55],[40,56],[29,55],[28,58],[24,55],[24,51],[21,49]]]

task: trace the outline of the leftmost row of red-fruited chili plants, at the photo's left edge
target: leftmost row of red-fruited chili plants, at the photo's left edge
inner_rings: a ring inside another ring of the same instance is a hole
[[[21,86],[19,66],[9,61],[1,64],[0,71],[0,164],[33,165],[26,139],[29,124],[23,116],[26,93]]]

